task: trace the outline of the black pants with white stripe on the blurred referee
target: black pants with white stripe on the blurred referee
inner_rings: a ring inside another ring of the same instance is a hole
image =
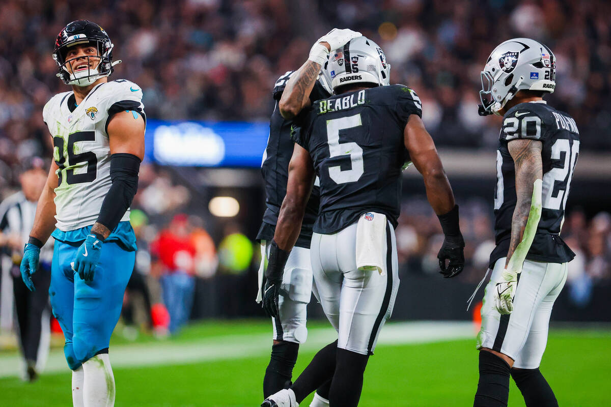
[[[21,349],[26,361],[37,362],[41,342],[48,347],[48,340],[41,341],[43,323],[45,331],[49,330],[49,284],[51,284],[51,271],[38,268],[32,275],[32,282],[36,290],[31,292],[23,283],[18,268],[13,269],[13,294],[15,295],[15,310],[19,325],[19,338]],[[47,312],[45,312],[47,311]],[[45,314],[45,321],[43,321]],[[45,350],[46,351],[46,350]]]

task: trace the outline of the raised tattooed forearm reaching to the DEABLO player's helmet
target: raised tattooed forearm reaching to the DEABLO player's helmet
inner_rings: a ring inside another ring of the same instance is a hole
[[[310,93],[318,79],[320,68],[320,64],[307,60],[291,75],[278,104],[282,117],[293,119],[304,107],[309,106]]]

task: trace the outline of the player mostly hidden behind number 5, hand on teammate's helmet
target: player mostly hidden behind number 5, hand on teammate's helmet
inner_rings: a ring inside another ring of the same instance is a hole
[[[359,32],[351,30],[333,29],[320,40],[327,37],[338,37],[341,45],[359,37]],[[325,61],[326,63],[326,61]],[[274,112],[269,123],[269,139],[263,155],[261,171],[265,180],[266,211],[259,229],[257,240],[261,243],[261,267],[259,268],[259,289],[257,302],[263,298],[263,275],[267,262],[271,241],[274,238],[274,229],[280,212],[280,205],[287,193],[288,162],[293,154],[293,145],[290,132],[293,126],[292,118],[305,106],[313,101],[328,98],[332,95],[331,81],[327,71],[319,69],[317,80],[313,87],[307,90],[296,88],[291,77],[299,76],[289,71],[276,81],[273,90],[275,101]],[[299,92],[300,93],[298,95]],[[285,118],[286,117],[286,118]],[[318,216],[319,189],[315,185],[305,206],[304,220],[301,231],[291,251],[284,268],[280,294],[278,297],[278,314],[272,317],[273,345],[271,358],[263,378],[263,398],[285,389],[291,384],[293,367],[297,361],[299,344],[307,338],[307,304],[312,296],[312,266],[310,265],[310,240],[312,240],[312,226]],[[314,396],[312,407],[325,407],[329,392],[328,384],[323,385]]]

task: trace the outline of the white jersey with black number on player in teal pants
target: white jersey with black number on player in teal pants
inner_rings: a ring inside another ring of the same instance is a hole
[[[59,93],[46,103],[43,120],[53,137],[53,159],[59,165],[55,218],[61,231],[90,226],[97,220],[112,184],[108,122],[122,110],[134,110],[145,118],[142,90],[125,79],[97,85],[78,106],[73,92]],[[128,209],[121,220],[129,219]]]

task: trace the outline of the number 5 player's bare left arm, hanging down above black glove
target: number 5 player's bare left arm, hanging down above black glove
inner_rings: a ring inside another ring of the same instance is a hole
[[[282,201],[274,233],[274,241],[282,250],[290,251],[297,242],[313,184],[314,168],[310,154],[296,144],[288,165],[287,195]]]

